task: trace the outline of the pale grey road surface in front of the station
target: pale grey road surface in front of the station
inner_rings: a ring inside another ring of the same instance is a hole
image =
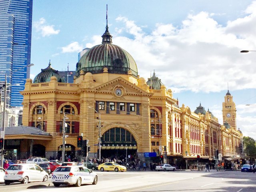
[[[100,172],[97,185],[54,187],[50,181],[28,184],[0,184],[8,192],[253,192],[256,174],[240,171],[224,172]],[[68,188],[68,189],[66,189]]]

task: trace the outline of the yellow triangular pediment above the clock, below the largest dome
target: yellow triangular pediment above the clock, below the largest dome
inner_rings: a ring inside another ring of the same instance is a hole
[[[151,95],[151,93],[144,91],[143,89],[139,88],[138,86],[132,84],[131,82],[125,80],[122,77],[118,77],[100,86],[94,87],[92,91],[112,93],[117,88],[121,88],[125,92],[125,94]]]

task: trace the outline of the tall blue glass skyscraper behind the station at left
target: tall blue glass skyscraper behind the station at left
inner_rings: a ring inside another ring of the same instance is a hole
[[[30,76],[32,0],[0,0],[0,83],[7,74],[7,105],[22,106],[26,78]],[[1,94],[2,95],[2,94]]]

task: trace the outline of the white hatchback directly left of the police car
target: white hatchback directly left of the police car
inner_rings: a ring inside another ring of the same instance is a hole
[[[28,183],[32,181],[48,180],[48,173],[36,164],[13,164],[10,165],[4,175],[4,183],[9,185],[13,182]]]

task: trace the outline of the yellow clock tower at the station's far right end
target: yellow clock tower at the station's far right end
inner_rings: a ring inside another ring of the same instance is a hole
[[[230,126],[236,128],[236,104],[229,90],[224,98],[225,102],[222,102],[223,123],[228,122]]]

